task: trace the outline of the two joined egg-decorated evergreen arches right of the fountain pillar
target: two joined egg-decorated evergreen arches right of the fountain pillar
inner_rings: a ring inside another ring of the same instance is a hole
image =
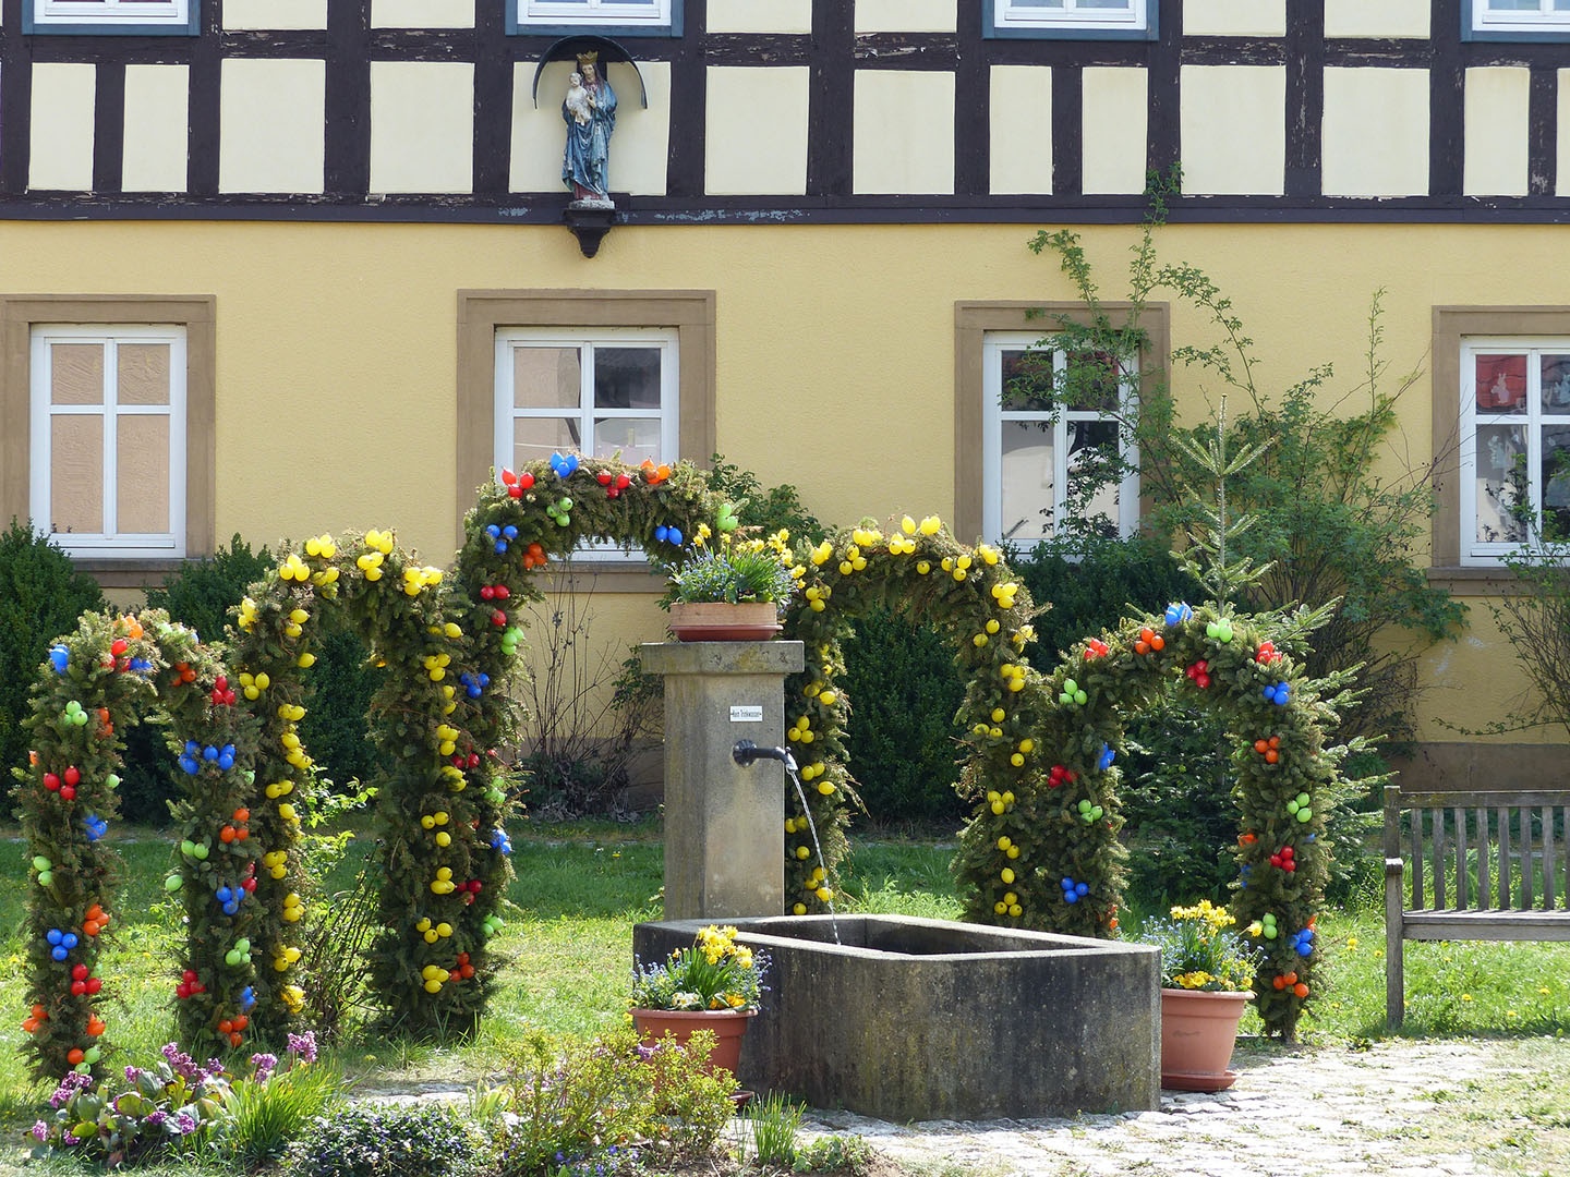
[[[1327,749],[1328,705],[1300,665],[1248,618],[1173,604],[1086,637],[1050,676],[1024,661],[1033,640],[1028,593],[999,551],[967,548],[928,518],[840,532],[805,556],[804,596],[787,636],[805,669],[787,683],[787,738],[807,785],[827,874],[809,846],[807,814],[785,819],[787,902],[821,910],[854,803],[846,767],[840,639],[873,604],[933,623],[966,678],[958,789],[973,811],[955,862],[966,916],[1077,935],[1118,932],[1126,851],[1118,755],[1123,719],[1159,692],[1188,692],[1232,733],[1240,833],[1231,910],[1259,948],[1259,1012],[1292,1039],[1320,964],[1317,912],[1328,877],[1320,799],[1344,749]]]

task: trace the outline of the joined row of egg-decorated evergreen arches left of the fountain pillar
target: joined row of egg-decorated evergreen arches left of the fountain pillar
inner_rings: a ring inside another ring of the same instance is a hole
[[[297,731],[301,672],[334,609],[383,670],[372,738],[394,764],[377,782],[372,1000],[410,1033],[471,1028],[495,979],[485,943],[510,879],[495,749],[518,719],[506,686],[521,606],[543,599],[531,571],[592,538],[675,557],[716,507],[691,466],[557,455],[480,491],[449,573],[382,530],[286,551],[237,610],[226,659],[159,610],[83,617],[41,672],[17,785],[35,882],[24,1044],[35,1072],[93,1070],[110,1050],[96,1011],[113,981],[97,968],[118,869],[100,840],[116,810],[115,725],[143,717],[168,720],[187,782],[166,880],[188,921],[171,962],[181,1040],[240,1050],[295,1025],[311,982],[300,975],[311,891],[300,821],[314,785]]]

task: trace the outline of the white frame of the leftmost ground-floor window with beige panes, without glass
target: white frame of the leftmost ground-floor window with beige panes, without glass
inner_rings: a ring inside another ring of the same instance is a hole
[[[104,344],[104,403],[52,405],[52,355],[57,342]],[[119,405],[119,344],[170,345],[170,403]],[[31,330],[31,411],[30,411],[30,512],[35,524],[50,535],[68,556],[78,559],[185,559],[185,466],[187,466],[187,328],[182,325],[130,326],[122,323],[39,323]],[[97,534],[55,532],[52,510],[53,430],[57,416],[99,416],[104,419],[104,530]],[[119,416],[166,416],[170,421],[170,530],[121,532],[116,527],[119,483],[115,421]]]

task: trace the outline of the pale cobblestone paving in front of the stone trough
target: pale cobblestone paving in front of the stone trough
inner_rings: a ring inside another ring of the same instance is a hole
[[[1570,1044],[1548,1042],[1556,1058]],[[1380,1042],[1281,1053],[1239,1047],[1237,1084],[1214,1095],[1163,1092],[1159,1111],[1075,1119],[934,1121],[895,1125],[815,1111],[807,1128],[854,1131],[901,1164],[962,1166],[1002,1177],[1459,1177],[1546,1172],[1488,1168],[1473,1155],[1482,1130],[1479,1091],[1495,1078],[1535,1072],[1510,1042]],[[1550,1092],[1556,1147],[1570,1138],[1570,1092]],[[1501,1111],[1510,1121],[1509,1110]],[[1471,1124],[1470,1124],[1471,1122]],[[1509,1125],[1506,1124],[1506,1128]],[[1537,1125],[1529,1127],[1537,1131]],[[1504,1133],[1509,1141],[1509,1131]],[[1557,1174],[1556,1174],[1557,1177]]]

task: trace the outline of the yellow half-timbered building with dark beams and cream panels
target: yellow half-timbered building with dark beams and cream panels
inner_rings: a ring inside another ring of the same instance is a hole
[[[609,207],[562,180],[581,61]],[[1454,455],[1421,559],[1495,592],[1499,482],[1570,507],[1570,0],[0,0],[0,515],[116,588],[237,532],[440,560],[493,466],[571,446],[1030,540],[1069,443],[999,374],[1075,295],[1025,242],[1075,228],[1116,298],[1171,165],[1159,248],[1265,386],[1356,367],[1385,290],[1400,446]],[[1551,763],[1443,727],[1521,689],[1485,610],[1426,675],[1443,772]]]

